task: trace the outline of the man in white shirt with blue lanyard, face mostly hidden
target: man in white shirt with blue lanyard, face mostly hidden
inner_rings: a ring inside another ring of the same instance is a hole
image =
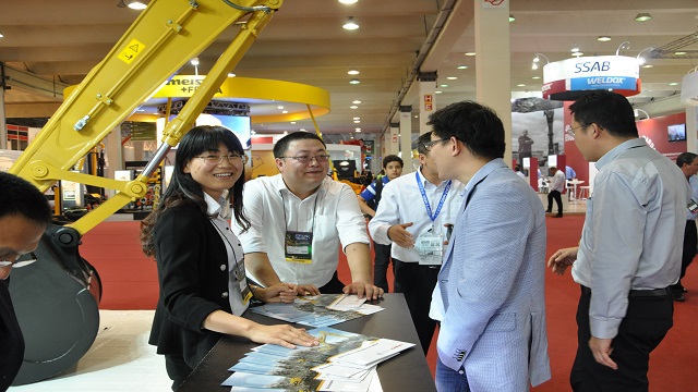
[[[420,169],[385,185],[378,210],[369,222],[374,242],[393,244],[395,292],[405,294],[424,354],[436,329],[429,309],[449,231],[447,225],[456,220],[465,188],[459,181],[438,177],[426,145],[430,134],[417,139]]]

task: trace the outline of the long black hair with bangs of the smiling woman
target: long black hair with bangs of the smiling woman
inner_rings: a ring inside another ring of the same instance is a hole
[[[141,222],[141,246],[146,256],[155,256],[155,244],[153,243],[153,230],[158,217],[165,210],[177,207],[185,203],[194,204],[205,215],[208,215],[204,191],[201,184],[192,179],[192,175],[184,173],[184,167],[194,157],[203,152],[216,151],[224,144],[228,151],[244,155],[242,144],[238,137],[225,126],[201,125],[189,131],[179,142],[177,154],[174,155],[174,171],[170,184],[160,198],[160,204]],[[244,168],[240,179],[236,181],[232,188],[228,189],[229,198],[232,200],[232,213],[243,230],[250,228],[250,221],[244,216],[242,209],[242,187],[244,186]]]

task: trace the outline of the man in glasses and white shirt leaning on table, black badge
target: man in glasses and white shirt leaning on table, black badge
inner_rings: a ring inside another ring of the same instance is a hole
[[[370,240],[357,195],[327,176],[329,155],[322,138],[291,133],[276,143],[274,157],[280,174],[245,184],[250,229],[233,225],[250,278],[264,286],[293,282],[299,294],[382,297],[383,289],[371,283]],[[347,285],[337,277],[340,243],[351,270]]]

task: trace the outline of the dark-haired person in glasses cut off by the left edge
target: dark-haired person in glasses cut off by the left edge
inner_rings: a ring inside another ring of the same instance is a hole
[[[39,189],[0,171],[0,391],[7,391],[24,358],[24,338],[10,297],[10,272],[36,260],[20,256],[36,249],[51,222],[51,208]]]

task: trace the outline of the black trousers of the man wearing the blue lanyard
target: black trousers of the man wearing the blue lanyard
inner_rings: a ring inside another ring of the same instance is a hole
[[[420,266],[418,262],[404,262],[394,258],[393,268],[395,270],[395,292],[405,294],[419,342],[424,355],[426,355],[436,330],[436,321],[429,318],[429,309],[440,266]]]

